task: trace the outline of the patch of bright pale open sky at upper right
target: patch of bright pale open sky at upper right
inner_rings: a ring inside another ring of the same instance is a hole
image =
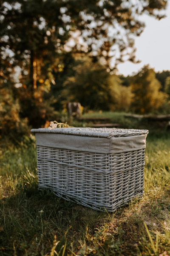
[[[170,70],[170,2],[166,9],[166,18],[156,20],[142,15],[145,22],[144,32],[135,39],[136,59],[139,64],[126,61],[118,65],[119,73],[124,76],[137,73],[144,65],[149,64],[155,71]]]

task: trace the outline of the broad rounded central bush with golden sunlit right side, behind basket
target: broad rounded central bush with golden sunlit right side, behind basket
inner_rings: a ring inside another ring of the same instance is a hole
[[[64,82],[61,92],[65,108],[68,102],[80,102],[85,111],[128,111],[131,89],[122,86],[118,76],[110,75],[101,64],[89,58],[80,59],[74,71],[74,76]]]

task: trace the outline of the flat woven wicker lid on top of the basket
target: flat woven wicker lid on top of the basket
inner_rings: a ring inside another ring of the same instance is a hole
[[[67,135],[78,135],[78,136],[88,136],[88,137],[101,137],[101,138],[111,138],[111,137],[127,137],[127,136],[137,136],[142,134],[148,134],[148,130],[137,130],[137,129],[119,129],[119,128],[39,128],[31,129],[31,132],[35,133],[54,133],[54,134],[67,134]]]

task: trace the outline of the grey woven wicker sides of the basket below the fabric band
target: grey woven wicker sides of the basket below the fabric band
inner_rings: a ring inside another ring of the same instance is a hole
[[[144,149],[100,154],[37,146],[39,188],[94,208],[114,211],[143,195]]]

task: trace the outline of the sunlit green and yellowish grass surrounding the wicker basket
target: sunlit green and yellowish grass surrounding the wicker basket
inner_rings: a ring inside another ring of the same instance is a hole
[[[38,190],[34,137],[1,148],[0,256],[170,256],[170,136],[145,160],[143,199],[107,213]]]

